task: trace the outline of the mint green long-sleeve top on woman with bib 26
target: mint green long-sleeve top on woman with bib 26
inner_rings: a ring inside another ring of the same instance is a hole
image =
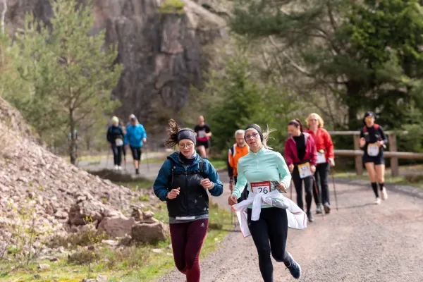
[[[288,190],[291,175],[281,153],[262,147],[257,153],[249,152],[241,157],[237,165],[238,179],[233,189],[232,195],[241,197],[241,192],[248,183],[247,189],[252,192],[251,184],[262,181],[280,181]],[[272,190],[274,185],[272,185]],[[271,207],[262,205],[262,208]]]

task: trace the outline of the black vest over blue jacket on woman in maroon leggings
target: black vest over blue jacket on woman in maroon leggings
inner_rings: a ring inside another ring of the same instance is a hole
[[[200,157],[197,171],[175,171],[176,164],[168,158],[172,164],[171,184],[169,190],[180,188],[179,195],[175,199],[167,199],[168,214],[176,216],[200,216],[209,213],[209,196],[207,189],[200,185],[200,181],[208,178],[204,172],[204,161]]]

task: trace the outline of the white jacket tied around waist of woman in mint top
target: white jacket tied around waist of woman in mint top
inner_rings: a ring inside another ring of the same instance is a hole
[[[302,209],[295,204],[295,202],[287,197],[283,197],[281,192],[278,190],[272,191],[268,194],[256,194],[254,192],[250,192],[247,200],[232,206],[232,209],[236,212],[236,216],[238,216],[240,229],[244,238],[250,235],[250,229],[247,224],[247,209],[250,204],[252,204],[252,221],[259,220],[260,213],[262,212],[262,204],[269,204],[272,207],[286,209],[288,227],[295,229],[307,228],[307,215],[305,212],[303,212]]]

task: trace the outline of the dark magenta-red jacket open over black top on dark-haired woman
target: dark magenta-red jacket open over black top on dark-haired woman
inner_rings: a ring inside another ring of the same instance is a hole
[[[305,155],[303,159],[298,158],[297,154],[297,144],[292,136],[288,137],[285,142],[285,161],[286,164],[289,166],[290,164],[300,164],[302,161],[310,161],[310,164],[316,165],[317,161],[317,149],[316,145],[314,145],[314,139],[308,133],[304,134],[305,140]]]

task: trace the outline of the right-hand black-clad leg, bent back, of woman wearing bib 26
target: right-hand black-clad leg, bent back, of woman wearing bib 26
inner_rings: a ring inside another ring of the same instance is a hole
[[[283,262],[285,266],[291,263],[288,252],[286,252],[286,238],[288,236],[288,217],[286,209],[269,208],[262,209],[269,225],[269,241],[271,256],[276,262]],[[262,216],[262,214],[260,214]]]

